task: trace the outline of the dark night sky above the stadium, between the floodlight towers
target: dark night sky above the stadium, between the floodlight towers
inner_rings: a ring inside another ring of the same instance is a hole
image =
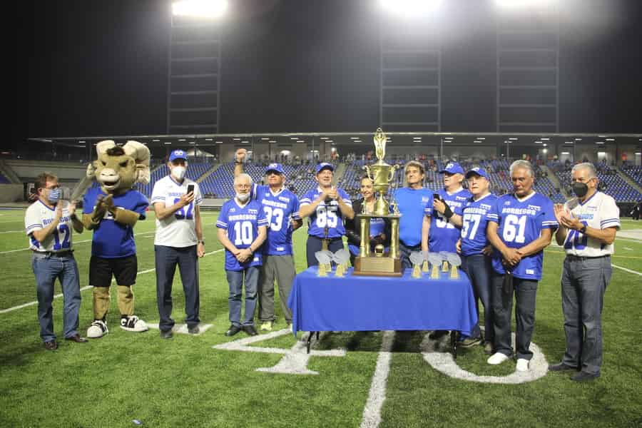
[[[563,3],[560,131],[642,131],[642,2]],[[442,5],[442,130],[494,131],[493,4]],[[165,133],[168,1],[16,7],[14,142]],[[220,131],[372,131],[381,13],[374,0],[241,1],[225,24]]]

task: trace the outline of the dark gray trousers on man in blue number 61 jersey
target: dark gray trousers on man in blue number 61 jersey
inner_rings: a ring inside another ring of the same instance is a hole
[[[495,332],[495,352],[509,357],[513,355],[511,346],[511,312],[513,310],[513,292],[504,291],[504,275],[493,271],[491,277],[493,300],[493,324]],[[533,352],[529,350],[531,337],[535,328],[535,298],[537,281],[513,277],[513,288],[516,300],[516,353],[517,358],[530,360]]]

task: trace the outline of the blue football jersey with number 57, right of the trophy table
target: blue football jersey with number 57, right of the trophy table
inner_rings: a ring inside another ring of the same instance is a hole
[[[492,193],[479,200],[471,196],[462,212],[462,255],[481,254],[489,244],[486,238],[486,225],[489,211],[494,207],[497,197]]]

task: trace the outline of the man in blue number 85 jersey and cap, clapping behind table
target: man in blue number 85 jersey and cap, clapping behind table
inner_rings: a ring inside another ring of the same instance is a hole
[[[305,245],[307,267],[319,264],[315,253],[321,250],[323,240],[328,241],[327,249],[332,253],[343,248],[343,219],[355,217],[350,196],[343,189],[332,185],[334,165],[322,162],[315,170],[319,186],[303,195],[299,208],[300,218],[310,218]]]

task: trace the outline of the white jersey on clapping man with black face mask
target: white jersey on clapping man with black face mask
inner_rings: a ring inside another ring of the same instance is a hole
[[[620,209],[611,196],[596,192],[580,203],[577,198],[567,200],[564,208],[571,211],[571,215],[587,225],[589,228],[606,229],[620,228]],[[564,241],[566,254],[580,257],[600,257],[613,254],[613,244],[603,244],[600,240],[590,238],[579,230],[568,230]]]

